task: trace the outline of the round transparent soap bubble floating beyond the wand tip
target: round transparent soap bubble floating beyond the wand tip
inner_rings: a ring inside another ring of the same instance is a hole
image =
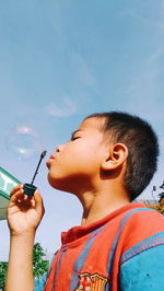
[[[9,132],[7,149],[19,159],[31,159],[42,151],[43,146],[38,132],[33,127],[23,125]]]

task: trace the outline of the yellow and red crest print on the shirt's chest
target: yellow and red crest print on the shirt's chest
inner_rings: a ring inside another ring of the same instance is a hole
[[[107,283],[107,278],[98,273],[90,275],[83,272],[79,275],[79,284],[75,291],[104,291]]]

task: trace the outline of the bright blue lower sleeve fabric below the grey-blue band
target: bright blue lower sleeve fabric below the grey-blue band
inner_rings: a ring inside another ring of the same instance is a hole
[[[120,267],[121,291],[164,290],[164,244],[129,258]]]

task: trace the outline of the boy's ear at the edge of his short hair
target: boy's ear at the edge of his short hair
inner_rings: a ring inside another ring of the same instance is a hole
[[[115,143],[109,147],[106,158],[102,163],[102,170],[118,168],[128,158],[128,148],[124,143]]]

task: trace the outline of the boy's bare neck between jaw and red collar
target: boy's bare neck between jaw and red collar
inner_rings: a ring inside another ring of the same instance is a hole
[[[89,191],[79,197],[83,206],[81,225],[87,225],[129,203],[127,193],[118,188]]]

